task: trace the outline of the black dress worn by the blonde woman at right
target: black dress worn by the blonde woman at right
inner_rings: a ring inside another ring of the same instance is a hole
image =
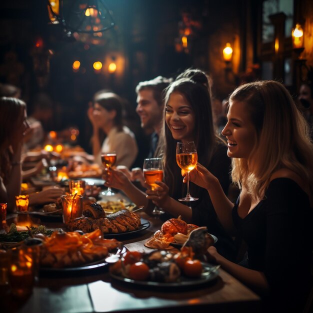
[[[301,312],[311,286],[312,209],[308,195],[289,178],[273,179],[265,197],[244,218],[232,218],[247,244],[245,264],[269,284],[265,311]]]

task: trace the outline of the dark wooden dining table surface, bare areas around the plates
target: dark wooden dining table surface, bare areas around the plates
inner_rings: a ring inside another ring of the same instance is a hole
[[[144,212],[142,218],[149,220],[150,227],[124,237],[121,241],[130,250],[151,251],[143,243],[162,221],[149,217]],[[11,214],[7,223],[22,219]],[[25,217],[24,222],[25,222]],[[29,219],[28,219],[29,220]],[[47,227],[63,227],[59,222],[45,222],[31,217],[34,223]],[[119,238],[118,238],[119,239]],[[92,272],[76,272],[51,276],[40,276],[32,294],[27,299],[14,298],[6,289],[0,290],[1,311],[3,312],[260,312],[260,299],[250,289],[241,284],[223,269],[219,269],[216,280],[188,289],[153,289],[112,280],[107,267]],[[2,288],[3,289],[3,288]],[[4,303],[4,304],[3,304]],[[3,309],[3,310],[2,310]]]

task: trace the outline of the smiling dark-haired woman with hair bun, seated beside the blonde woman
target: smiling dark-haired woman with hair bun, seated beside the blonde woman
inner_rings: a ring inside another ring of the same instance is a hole
[[[144,205],[147,213],[151,213],[156,204],[166,212],[162,218],[181,215],[187,223],[206,226],[208,232],[218,237],[215,245],[218,251],[234,259],[233,240],[217,219],[206,190],[190,185],[190,193],[199,199],[187,205],[178,201],[186,193],[176,163],[178,141],[194,141],[198,160],[218,177],[224,192],[230,184],[230,159],[226,155],[225,142],[215,135],[207,76],[200,70],[194,71],[195,75],[189,69],[187,71],[165,89],[164,120],[155,153],[163,158],[164,182],[157,181],[157,190],[146,190],[145,194],[135,189],[124,175],[112,170],[107,185],[122,189],[134,203]]]

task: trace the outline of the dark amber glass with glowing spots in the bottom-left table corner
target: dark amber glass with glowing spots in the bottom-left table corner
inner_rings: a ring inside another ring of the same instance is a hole
[[[31,253],[19,247],[9,251],[8,281],[15,296],[24,297],[34,285],[34,262]]]

